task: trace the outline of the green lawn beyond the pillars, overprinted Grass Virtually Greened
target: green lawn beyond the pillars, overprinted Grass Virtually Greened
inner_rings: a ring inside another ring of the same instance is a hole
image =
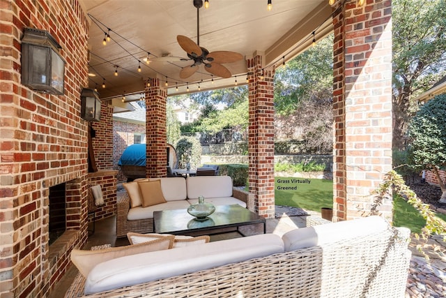
[[[327,179],[275,177],[275,204],[320,212],[322,207],[333,206],[333,181]],[[437,215],[446,221],[445,215]],[[407,227],[412,232],[419,233],[424,224],[424,218],[412,205],[408,204],[401,197],[394,197],[394,226]]]

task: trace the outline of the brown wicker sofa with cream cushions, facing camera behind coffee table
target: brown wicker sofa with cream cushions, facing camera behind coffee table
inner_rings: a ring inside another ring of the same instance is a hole
[[[203,195],[206,201],[217,205],[240,204],[254,208],[254,195],[233,187],[229,176],[163,177],[146,179],[160,180],[162,194],[167,202],[151,207],[134,207],[130,204],[128,191],[118,193],[116,210],[116,237],[126,237],[128,232],[153,232],[153,211],[187,209]],[[144,181],[144,180],[140,180]],[[137,184],[138,181],[130,182]]]

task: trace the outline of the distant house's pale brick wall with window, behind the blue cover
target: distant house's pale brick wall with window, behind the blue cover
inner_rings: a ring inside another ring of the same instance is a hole
[[[121,167],[118,165],[118,161],[125,148],[134,144],[135,133],[145,134],[146,126],[123,121],[113,122],[113,170],[118,171],[116,177],[118,183],[127,181]]]

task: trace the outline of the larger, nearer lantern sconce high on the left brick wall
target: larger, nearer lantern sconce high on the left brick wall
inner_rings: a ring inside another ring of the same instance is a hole
[[[47,94],[62,95],[65,61],[62,47],[45,30],[24,28],[22,38],[22,84]]]

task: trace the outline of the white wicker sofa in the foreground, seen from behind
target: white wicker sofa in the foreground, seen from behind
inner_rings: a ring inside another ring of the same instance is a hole
[[[404,297],[408,237],[371,216],[128,255],[66,297]]]

